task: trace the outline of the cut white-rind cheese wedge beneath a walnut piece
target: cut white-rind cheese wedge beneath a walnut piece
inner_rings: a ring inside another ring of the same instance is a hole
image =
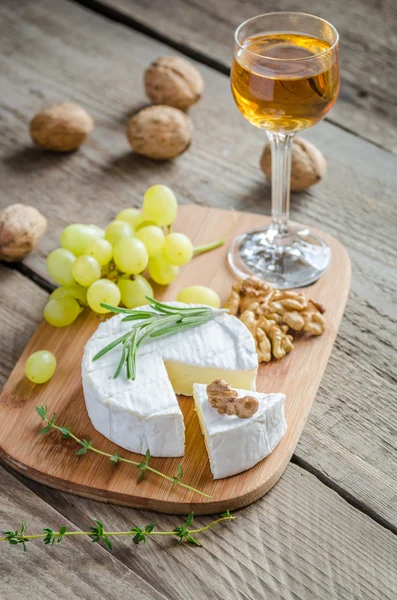
[[[258,399],[259,408],[252,417],[220,415],[208,401],[207,386],[195,384],[193,387],[214,479],[230,477],[256,465],[274,450],[287,428],[284,394],[261,394],[244,389],[237,392],[239,398],[249,395]]]

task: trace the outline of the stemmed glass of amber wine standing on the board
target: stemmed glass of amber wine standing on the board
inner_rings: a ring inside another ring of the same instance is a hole
[[[236,238],[229,263],[279,288],[316,281],[331,251],[310,229],[288,223],[291,148],[295,134],[321,121],[339,92],[338,32],[327,21],[295,12],[248,19],[235,32],[231,86],[250,123],[264,129],[272,158],[272,220]]]

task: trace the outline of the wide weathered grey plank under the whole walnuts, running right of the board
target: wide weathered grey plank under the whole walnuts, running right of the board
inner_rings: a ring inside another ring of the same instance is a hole
[[[170,49],[76,5],[62,2],[56,10],[49,5],[20,2],[12,10],[0,9],[6,90],[0,203],[31,202],[50,220],[28,265],[45,274],[44,256],[63,226],[75,220],[104,225],[122,206],[137,205],[145,188],[158,181],[172,185],[182,201],[269,210],[269,187],[257,166],[263,138],[234,107],[226,77],[200,67],[206,93],[191,111],[195,137],[185,155],[162,164],[136,157],[124,137],[125,121],[145,100],[143,69]],[[82,103],[95,117],[91,140],[68,156],[31,148],[30,115],[65,98]],[[397,339],[397,161],[330,124],[307,137],[326,154],[329,171],[320,186],[293,197],[292,216],[321,226],[348,247],[353,283],[297,455],[396,526],[390,364]]]

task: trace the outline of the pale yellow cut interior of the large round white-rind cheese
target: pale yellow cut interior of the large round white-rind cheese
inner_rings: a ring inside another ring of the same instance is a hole
[[[256,369],[229,371],[214,367],[196,367],[176,361],[166,361],[168,377],[176,394],[193,395],[193,383],[209,384],[214,379],[224,379],[234,388],[255,391]]]

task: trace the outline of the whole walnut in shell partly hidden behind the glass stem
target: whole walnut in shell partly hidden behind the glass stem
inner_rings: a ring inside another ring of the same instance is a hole
[[[272,161],[270,145],[263,150],[260,166],[271,181]],[[292,144],[291,190],[303,192],[319,183],[327,170],[327,161],[316,146],[303,138],[296,138]]]

